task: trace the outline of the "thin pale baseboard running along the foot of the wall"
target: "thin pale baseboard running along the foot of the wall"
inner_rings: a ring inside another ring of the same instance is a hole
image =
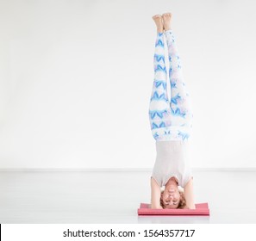
[[[247,168],[191,168],[192,171],[256,171]],[[0,168],[5,171],[87,171],[87,172],[151,172],[152,168]]]

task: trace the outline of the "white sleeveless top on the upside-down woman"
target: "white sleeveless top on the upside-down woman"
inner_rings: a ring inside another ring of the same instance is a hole
[[[152,177],[158,182],[159,187],[174,176],[178,180],[178,186],[184,188],[192,172],[189,163],[189,142],[186,140],[156,141],[157,156],[153,166]]]

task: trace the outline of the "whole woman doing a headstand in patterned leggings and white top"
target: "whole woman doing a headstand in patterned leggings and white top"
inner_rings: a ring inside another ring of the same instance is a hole
[[[157,36],[148,114],[157,156],[151,176],[151,208],[195,209],[193,176],[187,155],[193,114],[171,29],[171,18],[171,13],[153,15]],[[168,50],[171,102],[167,95],[164,38]]]

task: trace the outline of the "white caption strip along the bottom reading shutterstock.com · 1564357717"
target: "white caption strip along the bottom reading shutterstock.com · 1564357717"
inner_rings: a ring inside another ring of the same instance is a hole
[[[174,235],[178,234],[175,240],[207,240],[212,241],[218,238],[223,239],[241,239],[248,238],[251,239],[255,236],[254,229],[255,224],[3,224],[3,240],[12,241],[12,240],[34,240],[35,238],[39,241],[46,239],[53,240],[86,240],[94,241],[97,239],[103,239],[94,237],[94,232],[98,233],[100,231],[101,235],[110,234],[115,232],[115,235],[118,236],[124,235],[123,232],[130,232],[128,237],[104,237],[104,240],[126,240],[126,241],[136,241],[136,240],[148,240],[149,238],[154,240],[170,240],[172,233]],[[16,232],[13,232],[13,231]],[[161,232],[163,230],[163,232]],[[181,230],[181,231],[177,231]],[[185,230],[185,232],[182,232]],[[192,231],[194,230],[194,232]],[[80,232],[79,232],[80,231]],[[69,236],[64,236],[69,233]],[[80,237],[78,237],[78,232]],[[85,232],[88,234],[91,232],[92,237],[82,237],[82,232],[85,235]],[[89,232],[89,233],[88,233]],[[135,237],[132,236],[131,232],[135,232]],[[140,233],[140,234],[139,234]],[[159,236],[158,236],[158,233]],[[183,233],[183,236],[181,234]],[[191,234],[193,235],[191,236]],[[77,235],[72,237],[72,234]],[[166,237],[169,234],[169,237]],[[210,234],[210,235],[209,235]],[[128,233],[126,234],[128,235]],[[147,237],[145,237],[147,236]],[[187,236],[187,237],[185,237]],[[191,237],[190,237],[191,236]],[[185,237],[185,238],[184,238]]]

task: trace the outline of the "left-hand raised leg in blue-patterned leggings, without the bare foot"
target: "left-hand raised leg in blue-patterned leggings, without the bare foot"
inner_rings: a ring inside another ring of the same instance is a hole
[[[164,33],[157,33],[153,55],[154,79],[149,104],[149,121],[153,138],[162,139],[159,129],[171,126],[171,109],[167,95]]]

